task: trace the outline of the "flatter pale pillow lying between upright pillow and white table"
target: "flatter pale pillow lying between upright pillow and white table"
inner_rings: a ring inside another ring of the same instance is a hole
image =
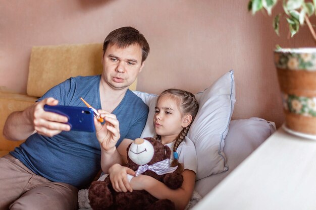
[[[249,119],[232,120],[229,124],[224,148],[229,170],[196,181],[194,189],[204,197],[274,131],[276,131],[275,123],[261,118],[251,117]]]

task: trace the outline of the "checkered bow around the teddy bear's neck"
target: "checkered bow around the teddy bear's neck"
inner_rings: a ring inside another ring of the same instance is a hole
[[[178,166],[176,167],[170,167],[170,163],[169,163],[169,159],[165,159],[163,161],[154,163],[152,165],[143,165],[143,166],[139,166],[137,171],[136,171],[136,175],[138,176],[139,174],[144,173],[145,171],[149,170],[149,171],[153,171],[158,175],[163,175],[163,174],[168,174],[168,173],[172,173],[174,172],[176,169],[178,168]]]

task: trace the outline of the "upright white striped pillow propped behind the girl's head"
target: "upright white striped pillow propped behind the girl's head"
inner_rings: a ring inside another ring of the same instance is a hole
[[[134,93],[149,107],[147,122],[140,137],[154,136],[152,119],[157,95],[139,91]],[[195,96],[199,110],[189,129],[188,137],[196,148],[198,180],[228,169],[223,148],[236,101],[234,71],[226,73],[212,86]]]

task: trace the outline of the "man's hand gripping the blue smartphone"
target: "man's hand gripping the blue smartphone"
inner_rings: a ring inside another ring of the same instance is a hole
[[[54,136],[63,130],[69,131],[70,125],[65,124],[68,122],[68,118],[57,113],[44,111],[45,104],[55,106],[58,104],[58,100],[46,98],[31,107],[29,113],[34,130],[45,136]]]

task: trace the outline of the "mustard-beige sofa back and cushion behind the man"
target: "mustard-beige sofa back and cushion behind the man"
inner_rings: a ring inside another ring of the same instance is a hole
[[[3,136],[3,127],[10,113],[24,110],[51,87],[70,77],[101,74],[101,58],[102,43],[33,47],[27,94],[0,91],[0,157],[23,142],[9,141]],[[135,90],[136,84],[137,81],[130,89]]]

